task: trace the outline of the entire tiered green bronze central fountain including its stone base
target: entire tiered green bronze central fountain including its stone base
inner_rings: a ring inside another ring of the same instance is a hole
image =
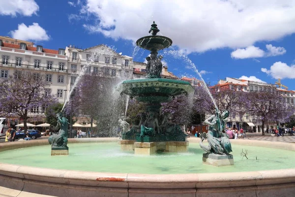
[[[142,37],[136,45],[148,49],[146,79],[125,80],[118,87],[121,94],[129,95],[147,105],[145,114],[141,114],[141,122],[129,131],[122,133],[121,147],[124,150],[135,150],[135,154],[153,154],[157,150],[166,152],[187,151],[186,133],[180,126],[169,123],[169,114],[161,115],[161,102],[167,102],[177,95],[192,94],[194,88],[189,82],[161,78],[162,56],[158,51],[172,45],[169,37],[157,35],[160,30],[155,22],[149,33]],[[147,150],[144,150],[146,147]]]

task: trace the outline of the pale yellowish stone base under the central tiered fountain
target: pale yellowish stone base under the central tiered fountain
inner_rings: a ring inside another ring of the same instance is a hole
[[[136,142],[134,140],[121,140],[121,150],[132,151],[135,155],[152,155],[157,151],[169,153],[185,153],[188,150],[188,141],[162,141],[162,142]]]

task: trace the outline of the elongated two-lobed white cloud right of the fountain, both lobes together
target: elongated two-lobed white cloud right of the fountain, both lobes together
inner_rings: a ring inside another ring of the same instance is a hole
[[[262,58],[270,56],[278,56],[286,53],[284,47],[275,47],[271,44],[266,44],[267,51],[260,49],[255,46],[248,46],[245,49],[236,49],[231,53],[231,57],[235,59],[246,59],[246,58]]]

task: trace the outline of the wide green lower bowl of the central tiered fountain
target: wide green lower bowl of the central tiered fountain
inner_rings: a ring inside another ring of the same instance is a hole
[[[172,96],[180,94],[190,94],[194,88],[187,81],[153,78],[125,80],[118,86],[118,91],[138,97],[140,101],[149,101],[157,97],[157,101],[167,101]]]

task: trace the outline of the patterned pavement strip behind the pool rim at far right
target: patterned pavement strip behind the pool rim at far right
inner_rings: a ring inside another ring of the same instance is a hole
[[[277,137],[276,135],[272,136],[270,133],[266,133],[264,136],[262,133],[246,133],[244,139],[295,143],[295,135],[289,135],[288,133],[284,134],[282,137]],[[243,138],[236,140],[243,140]]]

